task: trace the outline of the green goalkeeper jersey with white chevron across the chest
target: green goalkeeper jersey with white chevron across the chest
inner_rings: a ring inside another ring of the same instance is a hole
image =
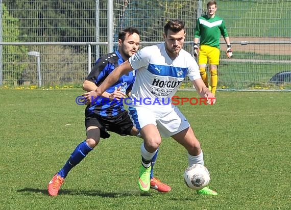
[[[228,37],[225,21],[221,17],[215,15],[209,18],[204,15],[198,18],[194,37],[200,37],[200,45],[220,48],[221,35]]]

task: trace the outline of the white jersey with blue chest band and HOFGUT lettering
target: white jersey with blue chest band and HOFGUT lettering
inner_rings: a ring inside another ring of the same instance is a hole
[[[138,50],[129,58],[129,62],[133,69],[137,69],[131,90],[131,97],[137,101],[147,98],[167,103],[186,75],[190,81],[201,78],[197,62],[187,51],[181,49],[178,57],[172,60],[166,53],[164,43]]]

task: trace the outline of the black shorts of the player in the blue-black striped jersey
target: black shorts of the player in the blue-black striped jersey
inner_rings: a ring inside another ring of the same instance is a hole
[[[130,131],[133,128],[133,123],[125,110],[114,117],[102,117],[100,115],[92,114],[85,118],[86,130],[90,126],[100,128],[100,137],[103,139],[109,138],[108,131],[114,132],[121,136],[131,135]]]

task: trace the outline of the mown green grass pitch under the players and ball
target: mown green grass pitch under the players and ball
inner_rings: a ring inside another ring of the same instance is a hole
[[[46,187],[85,137],[81,89],[0,90],[0,209],[290,209],[290,92],[217,92],[215,106],[180,106],[196,131],[219,196],[186,187],[186,151],[163,139],[155,175],[166,194],[137,187],[141,139],[102,140],[59,196]],[[195,92],[178,92],[197,97]]]

